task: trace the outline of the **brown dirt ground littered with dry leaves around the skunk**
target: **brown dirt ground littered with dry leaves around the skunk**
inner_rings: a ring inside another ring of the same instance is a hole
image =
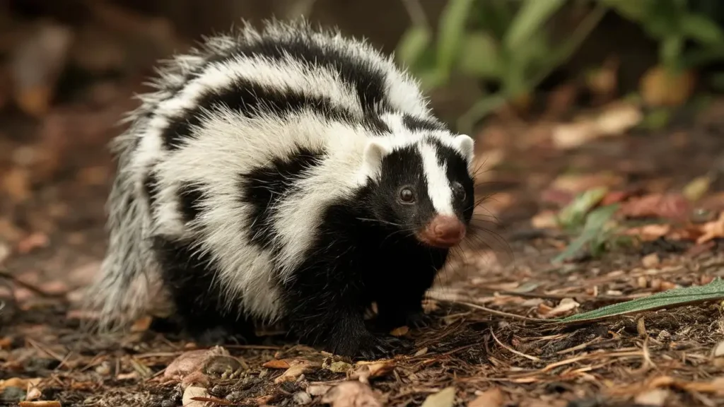
[[[719,303],[552,321],[724,277],[724,98],[658,130],[634,129],[641,109],[620,103],[583,121],[492,119],[476,135],[489,198],[426,301],[432,325],[395,332],[408,353],[353,362],[283,332],[203,350],[148,319],[122,337],[80,330],[106,239],[106,143],[142,81],[95,77],[47,106],[43,86],[20,101],[0,87],[0,406],[724,406]],[[615,130],[594,137],[605,114]],[[635,242],[552,262],[576,238],[552,216],[595,187]]]

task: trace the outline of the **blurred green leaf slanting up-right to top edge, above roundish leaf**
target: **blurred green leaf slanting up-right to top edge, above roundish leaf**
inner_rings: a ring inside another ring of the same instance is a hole
[[[548,18],[565,3],[564,0],[527,0],[515,14],[513,24],[505,33],[505,48],[514,51],[529,41]]]

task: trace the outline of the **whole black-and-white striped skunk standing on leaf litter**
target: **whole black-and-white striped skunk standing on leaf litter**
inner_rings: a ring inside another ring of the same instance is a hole
[[[394,350],[363,314],[418,320],[471,222],[472,138],[391,56],[306,21],[245,23],[158,72],[113,143],[101,327],[157,302],[196,334],[282,321],[339,355]]]

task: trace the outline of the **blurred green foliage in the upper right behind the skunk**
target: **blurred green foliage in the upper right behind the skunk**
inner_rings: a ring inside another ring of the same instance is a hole
[[[408,0],[415,1],[415,0]],[[508,101],[530,96],[565,63],[607,12],[636,22],[660,44],[667,70],[690,69],[724,60],[724,33],[710,16],[722,16],[721,0],[447,0],[437,32],[417,19],[397,46],[396,56],[426,90],[444,87],[453,75],[497,83],[499,89],[471,106],[458,122],[471,131],[479,119]],[[564,7],[589,6],[563,40],[548,24]],[[721,20],[720,20],[721,21]],[[694,41],[685,52],[686,41]]]

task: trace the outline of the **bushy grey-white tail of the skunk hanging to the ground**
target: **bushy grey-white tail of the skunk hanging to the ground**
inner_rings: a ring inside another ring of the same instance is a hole
[[[148,216],[135,194],[131,172],[136,143],[135,134],[129,131],[111,144],[119,162],[106,206],[110,239],[101,272],[85,295],[85,309],[98,313],[96,322],[86,328],[108,331],[127,326],[148,311],[157,287],[157,274],[144,239]]]

